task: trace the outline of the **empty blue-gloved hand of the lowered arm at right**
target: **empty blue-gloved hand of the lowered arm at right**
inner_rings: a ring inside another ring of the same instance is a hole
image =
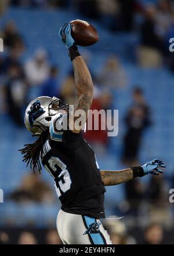
[[[142,165],[144,175],[146,174],[153,174],[153,175],[159,175],[163,174],[163,171],[159,169],[159,167],[165,168],[166,165],[163,163],[163,161],[155,158],[151,161],[148,161],[146,164]]]

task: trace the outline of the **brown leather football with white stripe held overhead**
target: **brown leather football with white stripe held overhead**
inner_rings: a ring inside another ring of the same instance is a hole
[[[70,23],[73,24],[71,35],[77,45],[89,46],[99,40],[96,29],[87,21],[73,20]]]

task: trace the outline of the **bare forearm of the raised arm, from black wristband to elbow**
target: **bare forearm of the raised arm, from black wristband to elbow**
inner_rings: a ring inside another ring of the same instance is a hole
[[[73,59],[74,77],[75,77],[75,88],[77,89],[77,95],[84,93],[89,96],[93,95],[93,82],[89,73],[88,67],[86,66],[81,56]]]

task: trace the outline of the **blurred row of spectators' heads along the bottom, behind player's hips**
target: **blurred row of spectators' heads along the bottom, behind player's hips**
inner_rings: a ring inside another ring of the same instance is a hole
[[[166,240],[171,241],[170,234],[156,222],[151,222],[146,228],[139,230],[127,230],[123,222],[112,219],[104,222],[110,239],[113,244],[165,244]],[[0,244],[62,244],[56,229],[36,230],[36,229],[13,229],[0,231]]]

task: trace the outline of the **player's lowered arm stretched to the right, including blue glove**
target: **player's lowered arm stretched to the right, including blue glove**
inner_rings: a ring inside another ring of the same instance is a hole
[[[155,158],[148,161],[142,166],[132,167],[121,171],[101,171],[102,181],[104,186],[117,185],[126,181],[130,181],[135,177],[142,177],[147,174],[159,175],[163,172],[159,169],[165,168],[165,164]]]

